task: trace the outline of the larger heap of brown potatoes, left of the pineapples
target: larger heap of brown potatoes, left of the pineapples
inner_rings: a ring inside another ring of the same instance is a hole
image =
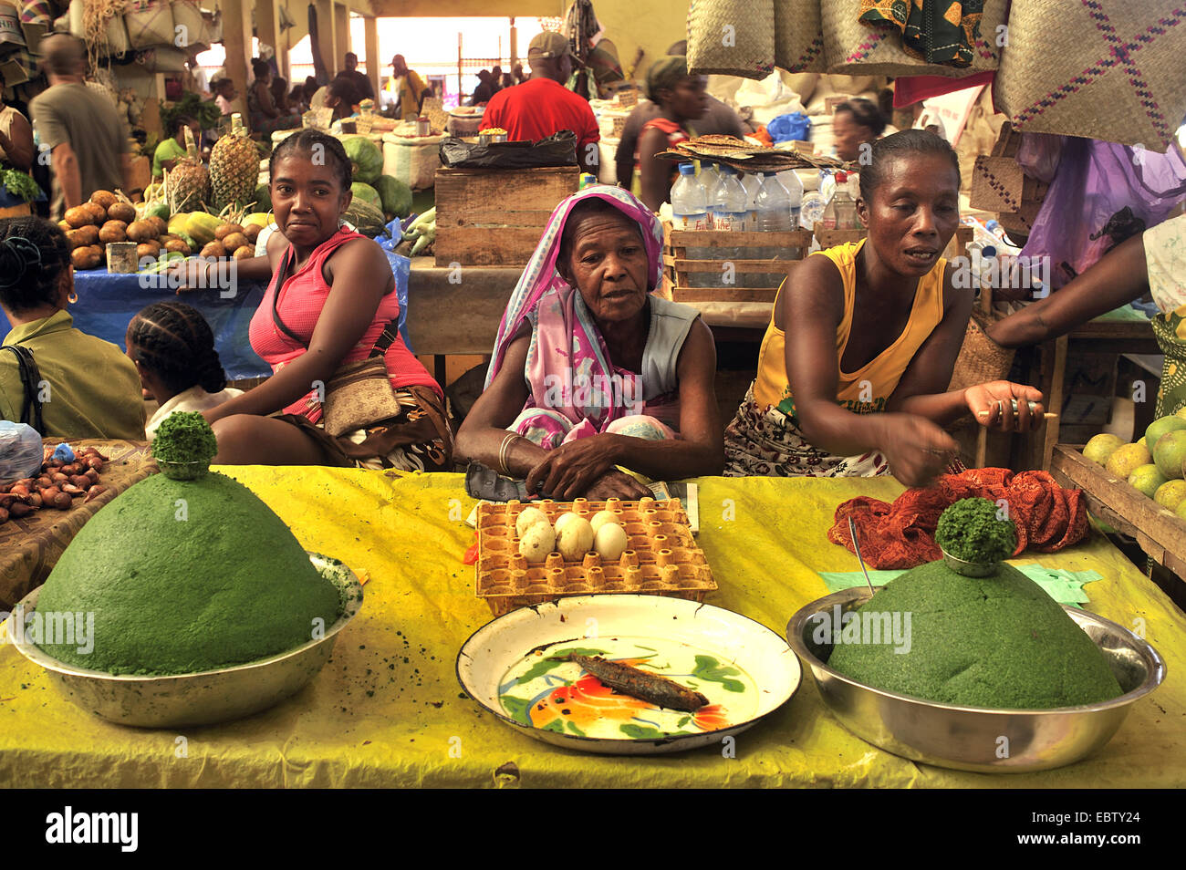
[[[161,251],[189,256],[191,245],[168,232],[164,218],[136,218],[136,209],[110,191],[95,191],[90,201],[68,209],[58,225],[70,243],[75,269],[97,269],[107,262],[110,242],[136,242],[136,260],[159,257]]]

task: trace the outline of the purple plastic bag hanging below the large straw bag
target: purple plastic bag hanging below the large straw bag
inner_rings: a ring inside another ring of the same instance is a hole
[[[1067,137],[1021,256],[1050,257],[1057,290],[1126,238],[1160,224],[1182,199],[1186,161],[1177,149],[1158,154]]]

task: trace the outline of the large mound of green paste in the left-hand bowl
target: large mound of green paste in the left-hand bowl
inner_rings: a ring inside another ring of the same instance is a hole
[[[110,673],[192,673],[306,644],[338,607],[337,588],[246,486],[157,474],[98,511],[42,589],[39,613],[94,613],[94,648],[79,652],[77,636],[39,646]]]

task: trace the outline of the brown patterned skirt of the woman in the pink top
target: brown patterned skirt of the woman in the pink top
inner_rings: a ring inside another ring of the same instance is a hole
[[[299,427],[342,466],[453,471],[453,434],[440,396],[427,386],[401,386],[395,397],[398,415],[338,437],[301,414],[282,414],[276,420]]]

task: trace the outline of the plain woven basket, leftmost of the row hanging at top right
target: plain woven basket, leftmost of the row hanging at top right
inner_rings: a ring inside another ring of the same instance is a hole
[[[763,79],[774,69],[774,0],[691,0],[688,71]]]

